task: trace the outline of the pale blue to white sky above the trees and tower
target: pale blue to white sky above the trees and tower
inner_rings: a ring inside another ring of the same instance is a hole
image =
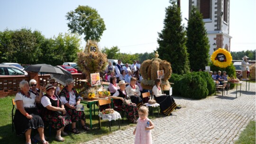
[[[181,0],[183,23],[188,1]],[[121,53],[153,52],[163,29],[169,0],[0,0],[0,31],[31,28],[46,38],[67,33],[67,12],[78,5],[98,10],[107,30],[100,47],[118,46]],[[230,0],[231,51],[256,49],[256,0]],[[82,47],[85,42],[82,39]]]

